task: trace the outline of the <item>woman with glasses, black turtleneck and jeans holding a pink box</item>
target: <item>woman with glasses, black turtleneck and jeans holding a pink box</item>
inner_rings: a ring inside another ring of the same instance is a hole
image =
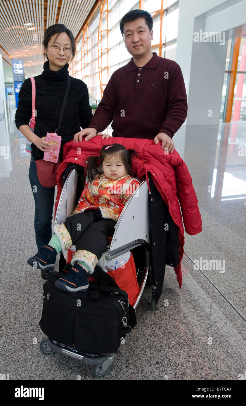
[[[52,212],[55,187],[45,188],[39,183],[35,156],[43,157],[44,151],[50,149],[46,142],[47,132],[56,132],[61,106],[69,77],[69,61],[73,59],[75,39],[70,30],[63,24],[54,24],[47,28],[43,38],[43,50],[47,61],[43,65],[43,73],[35,76],[37,110],[34,133],[28,123],[32,115],[32,85],[30,78],[22,84],[19,92],[18,108],[15,123],[19,131],[32,143],[29,179],[35,200],[35,236],[38,250],[52,237]],[[86,128],[92,118],[87,86],[82,80],[71,77],[67,103],[60,125],[59,134],[62,138],[60,161],[62,161],[63,145],[71,141],[80,127]],[[42,151],[42,152],[41,152]],[[40,155],[41,153],[41,155]],[[41,273],[46,276],[49,271]]]

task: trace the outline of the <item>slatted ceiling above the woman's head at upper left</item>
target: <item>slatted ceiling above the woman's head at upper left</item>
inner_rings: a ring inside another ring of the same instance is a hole
[[[0,0],[0,53],[4,65],[23,59],[26,77],[43,71],[43,33],[65,24],[76,37],[95,0]]]

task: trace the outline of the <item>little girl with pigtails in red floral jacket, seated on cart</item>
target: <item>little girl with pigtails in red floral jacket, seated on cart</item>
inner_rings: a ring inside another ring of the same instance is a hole
[[[104,145],[99,157],[91,156],[88,182],[72,216],[56,225],[50,242],[28,259],[31,266],[52,268],[57,253],[76,245],[69,272],[55,283],[60,289],[77,292],[88,288],[88,274],[94,272],[125,203],[139,186],[132,176],[132,155],[136,155],[133,149],[113,144]],[[98,158],[103,173],[96,168]]]

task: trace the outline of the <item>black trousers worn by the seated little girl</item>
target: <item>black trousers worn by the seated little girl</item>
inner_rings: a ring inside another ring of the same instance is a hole
[[[97,259],[106,251],[108,237],[113,236],[116,223],[117,221],[110,218],[103,218],[100,209],[73,214],[64,222],[76,251],[89,251],[95,254]]]

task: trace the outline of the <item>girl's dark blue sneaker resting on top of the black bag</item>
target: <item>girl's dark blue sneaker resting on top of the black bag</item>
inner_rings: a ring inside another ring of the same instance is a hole
[[[56,281],[55,286],[69,292],[85,291],[89,286],[89,274],[76,262],[69,269],[67,275],[64,275],[64,278],[60,278]]]

